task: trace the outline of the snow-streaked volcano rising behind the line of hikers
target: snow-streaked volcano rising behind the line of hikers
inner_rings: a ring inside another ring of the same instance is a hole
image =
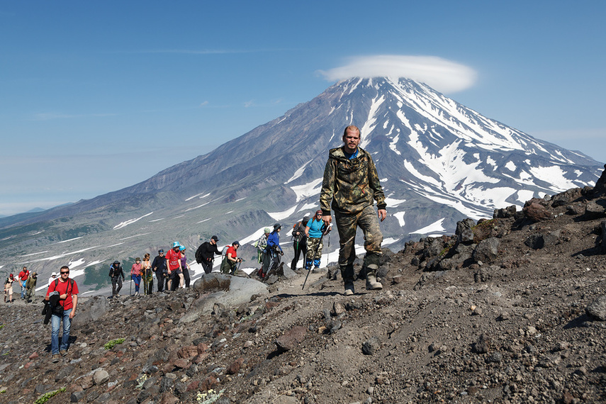
[[[602,171],[588,156],[481,116],[425,84],[349,79],[140,184],[1,218],[0,258],[27,262],[20,257],[38,254],[36,262],[52,264],[67,249],[86,256],[72,257],[86,266],[155,254],[174,240],[191,249],[213,234],[240,240],[244,253],[265,226],[288,229],[319,208],[328,150],[342,145],[350,124],[359,126],[361,147],[376,162],[388,205],[384,244],[395,248],[533,196],[593,186]]]

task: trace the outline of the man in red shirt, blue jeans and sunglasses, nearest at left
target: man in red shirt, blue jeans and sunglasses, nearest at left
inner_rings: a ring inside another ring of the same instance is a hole
[[[58,297],[57,297],[58,296]],[[67,355],[67,342],[69,341],[69,328],[72,326],[72,318],[76,315],[78,305],[78,285],[74,279],[69,278],[69,267],[62,266],[60,278],[51,282],[46,292],[45,300],[51,302],[52,332],[50,334],[50,352],[52,361],[56,363],[61,356]],[[52,303],[56,302],[56,305]],[[59,327],[63,319],[63,337],[59,345]]]

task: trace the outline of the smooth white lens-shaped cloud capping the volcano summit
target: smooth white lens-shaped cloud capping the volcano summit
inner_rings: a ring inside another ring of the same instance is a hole
[[[375,55],[352,57],[348,64],[320,70],[327,80],[352,77],[405,77],[425,83],[437,91],[454,93],[476,82],[476,71],[437,56]]]

